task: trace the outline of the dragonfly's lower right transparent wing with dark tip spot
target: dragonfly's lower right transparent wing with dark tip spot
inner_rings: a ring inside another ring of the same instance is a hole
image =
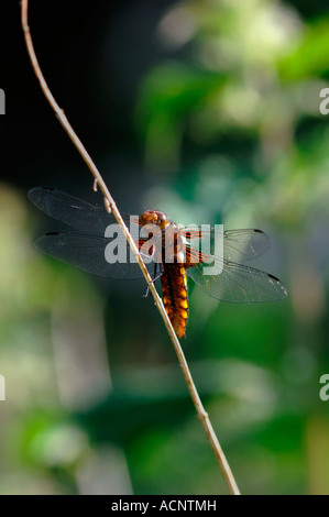
[[[222,301],[273,301],[287,296],[285,286],[273,275],[242,264],[224,261],[219,275],[207,275],[207,266],[197,264],[188,276],[205,292]]]

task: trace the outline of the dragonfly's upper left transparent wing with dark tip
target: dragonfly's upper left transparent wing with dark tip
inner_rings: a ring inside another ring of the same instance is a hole
[[[78,231],[105,235],[109,224],[117,220],[105,207],[98,207],[52,187],[35,187],[28,194],[29,199],[47,216],[69,224]],[[129,216],[124,218],[129,224]]]

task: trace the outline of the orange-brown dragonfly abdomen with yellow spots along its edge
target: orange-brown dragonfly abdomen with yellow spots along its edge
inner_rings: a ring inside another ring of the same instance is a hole
[[[188,319],[186,270],[179,264],[163,264],[163,302],[178,338],[186,332]]]

